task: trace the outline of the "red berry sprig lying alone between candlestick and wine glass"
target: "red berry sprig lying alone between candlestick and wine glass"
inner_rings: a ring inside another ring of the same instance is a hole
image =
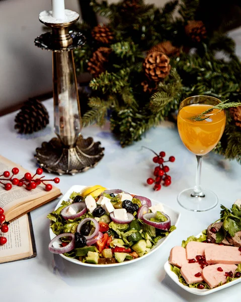
[[[155,191],[159,191],[162,188],[162,185],[165,187],[168,187],[171,185],[172,183],[172,178],[170,175],[168,175],[167,173],[170,171],[169,167],[167,165],[165,165],[165,163],[174,163],[175,162],[175,157],[174,156],[170,156],[168,161],[165,161],[164,158],[166,156],[166,153],[164,151],[160,152],[159,155],[157,153],[155,153],[152,149],[144,147],[148,150],[151,150],[151,152],[153,152],[155,154],[155,157],[153,157],[153,162],[155,164],[158,164],[158,166],[155,167],[154,169],[154,176],[155,179],[153,178],[148,178],[147,179],[147,184],[148,185],[152,185],[154,183],[154,190]]]

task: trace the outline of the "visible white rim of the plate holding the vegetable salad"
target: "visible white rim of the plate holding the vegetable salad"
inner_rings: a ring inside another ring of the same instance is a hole
[[[69,200],[69,196],[72,194],[72,192],[81,192],[81,190],[83,190],[85,187],[86,186],[79,186],[79,185],[72,186],[64,194],[64,196],[59,200],[58,204],[55,207],[55,210],[60,207],[60,205],[61,205],[61,203],[62,203],[63,200],[64,201],[68,201]],[[138,193],[137,193],[137,195],[138,195]],[[151,204],[155,205],[155,204],[158,204],[158,202],[155,201],[155,200],[153,200],[153,199],[151,199]],[[171,207],[169,207],[166,204],[163,204],[163,206],[164,206],[164,212],[171,218],[172,225],[176,225],[177,226],[177,224],[179,222],[179,219],[180,219],[180,216],[181,216],[181,213],[175,211],[174,209],[172,209]],[[50,234],[50,239],[51,240],[54,237],[56,237],[56,235],[53,233],[53,231],[51,230],[51,228],[49,228],[49,234]],[[172,233],[170,233],[167,237],[164,237],[164,238],[160,239],[158,241],[158,243],[149,251],[149,253],[145,254],[144,256],[136,258],[136,259],[133,259],[133,260],[124,261],[124,262],[121,262],[121,263],[113,263],[113,264],[90,264],[90,263],[83,263],[83,262],[78,261],[76,259],[66,257],[66,256],[64,256],[62,254],[59,254],[59,255],[62,258],[66,259],[66,260],[68,260],[70,262],[73,262],[73,263],[79,264],[79,265],[84,265],[84,266],[102,267],[103,268],[103,267],[109,267],[109,266],[126,265],[126,264],[130,264],[130,263],[134,263],[134,262],[139,261],[141,259],[144,259],[147,256],[151,255],[152,253],[156,252],[170,238],[171,235],[172,235]]]

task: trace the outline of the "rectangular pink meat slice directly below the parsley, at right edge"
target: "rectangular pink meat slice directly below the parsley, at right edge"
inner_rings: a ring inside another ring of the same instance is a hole
[[[236,247],[208,244],[205,248],[207,263],[239,264],[241,263],[241,252]]]

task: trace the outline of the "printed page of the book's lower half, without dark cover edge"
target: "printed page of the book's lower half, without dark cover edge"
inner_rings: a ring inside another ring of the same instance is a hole
[[[9,258],[20,254],[30,254],[32,252],[32,243],[29,231],[28,215],[14,220],[9,224],[9,232],[1,233],[0,236],[7,238],[5,245],[0,245],[0,263]]]

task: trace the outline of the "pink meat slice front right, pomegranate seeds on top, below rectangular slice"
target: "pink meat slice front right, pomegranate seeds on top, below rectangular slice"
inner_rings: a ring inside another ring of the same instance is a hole
[[[217,268],[221,267],[222,272],[218,271]],[[203,280],[209,285],[210,288],[218,286],[220,282],[222,284],[226,283],[226,276],[225,272],[232,271],[233,275],[236,270],[237,266],[234,264],[214,264],[208,265],[204,267],[202,271]]]

